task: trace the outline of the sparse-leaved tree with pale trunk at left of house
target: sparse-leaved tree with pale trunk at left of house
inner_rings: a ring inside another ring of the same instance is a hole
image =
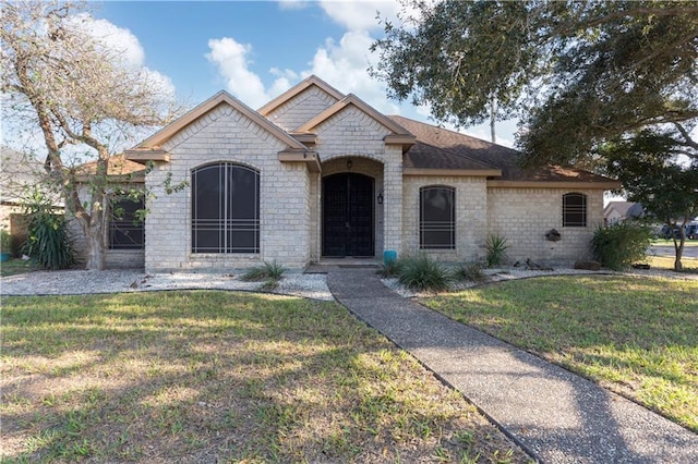
[[[3,111],[17,124],[40,130],[47,170],[87,241],[86,268],[103,269],[115,141],[134,127],[168,122],[174,106],[160,80],[128,65],[123,50],[89,33],[89,20],[68,2],[3,1],[1,90],[8,102]],[[93,171],[65,162],[70,146],[84,147],[95,161]]]

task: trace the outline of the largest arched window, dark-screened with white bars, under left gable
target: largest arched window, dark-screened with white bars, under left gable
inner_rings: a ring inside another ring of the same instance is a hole
[[[192,253],[260,253],[260,173],[231,162],[192,172]]]

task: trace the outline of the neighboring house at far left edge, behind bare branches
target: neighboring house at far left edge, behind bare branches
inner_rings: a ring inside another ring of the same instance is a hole
[[[26,242],[27,218],[24,212],[27,194],[38,187],[50,199],[57,213],[63,212],[63,202],[43,182],[41,178],[46,175],[44,163],[34,156],[0,145],[0,228],[10,231],[17,252]]]

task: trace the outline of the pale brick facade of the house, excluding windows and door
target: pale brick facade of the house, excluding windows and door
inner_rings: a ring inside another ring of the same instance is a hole
[[[341,94],[316,77],[299,87],[273,100],[261,113],[230,96],[218,96],[193,110],[194,117],[146,141],[152,145],[144,143],[139,148],[156,151],[149,158],[155,169],[146,178],[147,188],[155,194],[147,203],[151,212],[145,225],[148,271],[232,270],[272,260],[302,269],[318,261],[323,258],[323,179],[349,172],[373,180],[373,249],[378,259],[392,249],[400,256],[426,253],[440,260],[481,260],[490,234],[508,240],[512,261],[571,262],[589,257],[589,240],[603,221],[602,188],[489,185],[496,170],[478,172],[486,164],[483,162],[454,171],[437,169],[438,174],[413,166],[406,170],[405,152],[414,143],[411,133],[353,96],[338,99]],[[132,159],[144,159],[139,158],[139,149]],[[448,147],[422,145],[424,149],[454,156]],[[167,156],[158,158],[157,154]],[[459,157],[453,159],[465,159]],[[192,253],[191,185],[165,192],[168,176],[172,185],[191,183],[192,170],[221,161],[260,173],[260,253]],[[453,251],[420,249],[420,188],[434,185],[455,191]],[[587,227],[562,227],[562,195],[568,192],[587,195]],[[559,242],[544,239],[550,229],[562,233]]]

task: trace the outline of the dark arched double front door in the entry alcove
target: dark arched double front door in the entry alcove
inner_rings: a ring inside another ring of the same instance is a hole
[[[373,178],[323,179],[323,256],[373,256]]]

